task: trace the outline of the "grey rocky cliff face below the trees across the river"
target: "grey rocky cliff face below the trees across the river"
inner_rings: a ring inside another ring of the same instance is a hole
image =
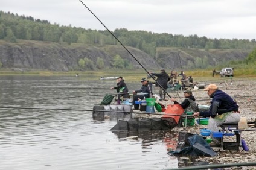
[[[16,68],[28,70],[71,71],[78,69],[78,61],[85,57],[96,63],[97,58],[103,58],[104,68],[112,68],[113,58],[120,55],[129,60],[133,68],[146,69],[179,68],[180,60],[177,49],[165,48],[158,50],[154,59],[150,55],[136,48],[127,48],[136,58],[122,46],[62,46],[57,43],[22,41],[20,43],[7,43],[0,41],[0,62],[2,68]],[[193,63],[196,57],[208,57],[211,65],[222,61],[243,60],[250,51],[239,50],[213,50],[181,49],[179,52],[182,66]],[[140,65],[140,64],[141,65]]]

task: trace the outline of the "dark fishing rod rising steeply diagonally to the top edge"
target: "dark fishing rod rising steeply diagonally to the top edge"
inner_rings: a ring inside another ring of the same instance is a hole
[[[126,51],[139,63],[139,61],[133,56],[133,54],[126,48],[126,46],[123,45],[123,43],[120,42],[120,40],[118,40],[118,38],[109,30],[109,28],[106,27],[106,25],[103,24],[103,22],[101,22],[100,19],[98,19],[98,17],[81,1],[79,0],[91,13],[92,15],[106,28],[107,31],[109,31],[109,33],[120,43],[121,46],[123,46],[124,49],[126,49]],[[147,74],[150,75],[150,77],[152,77],[152,79],[158,83],[158,81],[156,81],[156,79],[153,77],[153,75],[151,75],[149,73],[149,71],[147,71],[146,68],[144,68],[144,66],[142,66],[141,63],[139,63],[139,65],[147,72]],[[159,84],[159,87],[161,87],[161,89],[171,98],[171,96],[168,94],[168,92],[164,89],[164,87],[161,86],[161,84]]]

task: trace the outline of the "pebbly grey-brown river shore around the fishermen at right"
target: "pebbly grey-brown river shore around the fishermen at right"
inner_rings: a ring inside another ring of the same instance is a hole
[[[246,120],[248,122],[255,121],[255,115],[256,115],[256,96],[255,96],[255,89],[256,89],[256,82],[255,80],[242,80],[242,81],[232,81],[232,83],[216,83],[217,86],[219,86],[220,90],[223,90],[224,92],[228,93],[239,105],[240,114],[242,117],[246,117]],[[173,95],[174,93],[170,93],[170,95]],[[177,95],[179,94],[179,95]],[[177,93],[176,96],[180,97],[177,98],[179,102],[182,102],[184,100],[183,92]],[[173,95],[174,96],[174,95]],[[196,91],[193,91],[193,96],[196,98],[198,104],[200,105],[210,105],[210,98],[208,97],[207,93],[203,91],[203,89],[199,89]],[[168,99],[168,98],[167,98]],[[168,101],[158,101],[161,102],[161,104],[168,105],[173,104],[173,102],[168,99]],[[162,112],[157,112],[162,113]],[[162,113],[164,114],[164,113]],[[142,116],[141,114],[137,116]],[[147,118],[151,117],[161,117],[161,115],[144,115]],[[136,114],[135,114],[136,117]],[[207,128],[207,125],[196,125],[193,127],[182,127],[178,128],[175,127],[171,131],[174,131],[174,133],[178,133],[179,131],[187,131],[190,133],[197,133],[200,134],[200,129]],[[255,129],[254,124],[251,126],[248,126],[246,130]],[[235,136],[232,136],[235,137]],[[248,163],[248,162],[256,162],[256,131],[243,131],[241,133],[241,139],[244,139],[246,142],[246,145],[249,148],[249,151],[243,151],[242,147],[240,150],[223,150],[220,151],[219,148],[213,148],[214,151],[216,151],[218,154],[214,157],[199,157],[196,159],[196,162],[209,162],[210,164],[216,164],[216,163]],[[175,139],[178,140],[178,139]],[[232,140],[234,141],[234,140]],[[187,159],[186,157],[181,157],[180,159]],[[229,168],[233,169],[233,168]],[[237,169],[237,168],[235,168]],[[242,167],[240,169],[256,169],[256,166],[248,166],[248,167]]]

